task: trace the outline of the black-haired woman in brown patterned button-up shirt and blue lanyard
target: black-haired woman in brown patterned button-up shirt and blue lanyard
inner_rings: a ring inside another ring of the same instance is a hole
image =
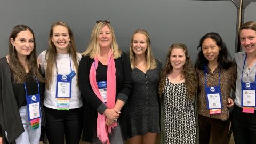
[[[213,143],[228,143],[228,108],[234,105],[229,95],[235,89],[236,65],[218,33],[204,35],[199,47],[195,65],[199,81],[199,141],[209,143],[212,137]]]

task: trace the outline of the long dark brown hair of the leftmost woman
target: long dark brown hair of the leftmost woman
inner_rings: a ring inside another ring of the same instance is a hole
[[[29,55],[27,55],[27,58],[26,58],[28,60],[29,73],[31,75],[36,76],[38,81],[44,82],[44,78],[42,77],[37,65],[35,35],[33,30],[26,25],[15,26],[12,29],[12,32],[9,36],[9,58],[8,59],[9,59],[9,67],[13,73],[14,82],[21,84],[21,83],[24,83],[28,78],[25,67],[20,63],[17,57],[17,51],[15,49],[15,46],[13,46],[11,43],[11,39],[14,40],[21,31],[26,31],[26,30],[30,31],[30,33],[33,34],[33,40],[34,40],[33,50]]]

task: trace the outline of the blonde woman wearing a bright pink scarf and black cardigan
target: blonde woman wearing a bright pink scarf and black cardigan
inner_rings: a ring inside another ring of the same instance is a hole
[[[131,66],[127,55],[117,45],[110,21],[96,22],[79,63],[78,75],[84,98],[83,141],[124,143]]]

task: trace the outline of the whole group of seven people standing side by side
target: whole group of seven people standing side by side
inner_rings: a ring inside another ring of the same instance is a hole
[[[44,131],[49,143],[79,143],[82,130],[91,143],[156,143],[161,133],[161,143],[226,144],[233,106],[235,142],[256,143],[256,22],[239,38],[244,51],[231,61],[220,35],[207,33],[195,67],[174,43],[162,70],[144,29],[131,37],[129,60],[110,21],[95,23],[82,54],[67,23],[54,22],[36,58],[33,30],[17,25],[0,59],[0,144],[39,143]]]

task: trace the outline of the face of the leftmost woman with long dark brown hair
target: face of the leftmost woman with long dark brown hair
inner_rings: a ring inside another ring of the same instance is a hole
[[[10,39],[18,58],[27,57],[34,49],[33,34],[29,30],[20,31],[15,39]]]

